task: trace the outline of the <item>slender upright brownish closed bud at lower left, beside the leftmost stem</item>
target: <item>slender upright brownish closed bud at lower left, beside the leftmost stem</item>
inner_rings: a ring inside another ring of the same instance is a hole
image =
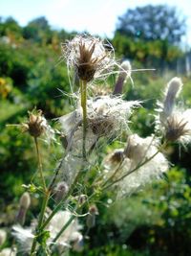
[[[21,225],[25,223],[26,220],[26,214],[28,211],[28,208],[31,204],[31,198],[30,194],[28,192],[25,192],[19,201],[19,211],[16,216],[16,221],[18,221]]]

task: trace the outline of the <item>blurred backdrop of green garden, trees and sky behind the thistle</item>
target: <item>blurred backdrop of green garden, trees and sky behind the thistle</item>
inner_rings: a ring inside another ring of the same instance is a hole
[[[147,136],[154,130],[156,101],[173,76],[182,78],[180,99],[191,106],[190,10],[190,0],[0,0],[0,226],[11,226],[22,184],[36,171],[32,139],[6,125],[23,122],[34,106],[50,121],[71,109],[60,92],[70,92],[61,43],[78,33],[99,35],[114,45],[119,62],[156,69],[133,72],[134,87],[127,81],[124,88],[127,100],[144,100],[131,128]],[[51,174],[60,147],[44,146],[42,153]],[[191,255],[190,153],[189,146],[169,147],[175,165],[164,179],[129,198],[105,201],[80,255]],[[37,212],[33,198],[28,219]]]

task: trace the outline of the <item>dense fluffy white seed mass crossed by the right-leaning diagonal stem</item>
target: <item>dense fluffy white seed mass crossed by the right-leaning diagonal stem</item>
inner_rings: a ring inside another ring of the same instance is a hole
[[[118,167],[117,173],[112,163],[106,166],[106,178],[114,174],[114,179],[123,176],[123,179],[117,183],[119,197],[134,193],[168,170],[168,162],[159,152],[158,147],[159,142],[152,136],[146,138],[140,138],[138,134],[129,136],[123,162]]]

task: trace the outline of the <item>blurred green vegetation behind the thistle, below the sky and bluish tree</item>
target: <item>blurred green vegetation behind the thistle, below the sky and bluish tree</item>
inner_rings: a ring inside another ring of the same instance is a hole
[[[67,67],[60,58],[60,43],[72,34],[53,31],[44,17],[20,27],[15,20],[0,20],[0,225],[11,226],[24,192],[36,172],[32,139],[8,124],[24,122],[33,107],[43,110],[49,120],[68,112],[69,100],[62,92],[70,92]],[[173,40],[173,37],[172,37]],[[133,86],[127,81],[126,99],[143,100],[143,106],[132,118],[132,128],[139,135],[151,133],[156,100],[169,77],[175,73],[173,63],[184,55],[172,41],[162,38],[135,39],[118,29],[112,39],[117,58],[130,58],[134,68],[158,67],[158,70],[133,73]],[[171,69],[165,73],[164,67]],[[164,74],[164,73],[162,73]],[[184,99],[191,105],[191,81],[184,81]],[[112,83],[109,84],[112,86]],[[149,112],[151,113],[151,111]],[[56,127],[56,122],[53,122]],[[60,147],[43,146],[47,173],[52,172],[61,156]],[[146,256],[190,255],[191,241],[191,169],[190,147],[180,152],[179,146],[169,147],[176,167],[159,182],[131,198],[116,203],[105,198],[100,206],[96,226],[85,240],[84,251],[74,255]],[[53,157],[50,157],[53,155]],[[171,160],[170,159],[170,160]],[[110,195],[108,195],[109,197]],[[108,206],[110,205],[110,208]],[[32,212],[37,212],[35,198]],[[29,213],[30,217],[31,213]],[[30,218],[29,218],[30,219]],[[10,236],[10,241],[11,241]],[[73,252],[71,253],[73,255]]]

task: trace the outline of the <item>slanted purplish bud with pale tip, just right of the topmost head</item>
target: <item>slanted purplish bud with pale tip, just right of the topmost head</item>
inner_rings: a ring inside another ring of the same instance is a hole
[[[125,60],[122,62],[120,66],[120,73],[117,78],[117,82],[115,85],[115,89],[113,94],[121,94],[122,93],[122,87],[127,77],[131,76],[131,64],[128,60]]]

